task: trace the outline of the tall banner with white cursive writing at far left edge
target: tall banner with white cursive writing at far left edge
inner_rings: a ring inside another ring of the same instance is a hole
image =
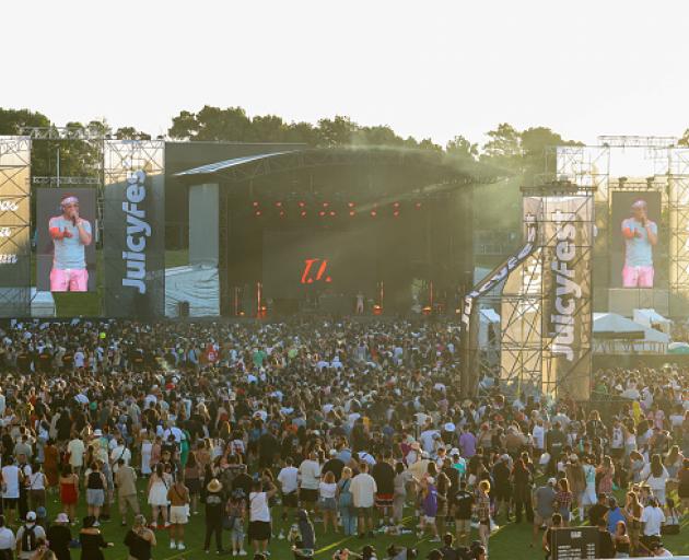
[[[31,315],[31,139],[0,137],[0,317]]]

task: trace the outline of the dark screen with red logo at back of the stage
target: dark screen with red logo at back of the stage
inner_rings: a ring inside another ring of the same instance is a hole
[[[318,293],[373,298],[375,238],[366,229],[264,232],[264,294],[304,298]]]

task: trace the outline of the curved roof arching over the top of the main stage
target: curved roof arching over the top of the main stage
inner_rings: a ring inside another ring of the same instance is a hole
[[[395,166],[428,172],[431,182],[493,183],[510,175],[494,166],[434,150],[386,147],[305,148],[224,160],[175,174],[187,184],[240,183],[326,166]]]

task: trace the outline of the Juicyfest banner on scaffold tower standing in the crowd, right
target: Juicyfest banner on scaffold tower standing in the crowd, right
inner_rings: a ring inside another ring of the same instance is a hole
[[[525,206],[538,207],[542,234],[544,392],[588,400],[593,335],[593,192],[529,198]]]

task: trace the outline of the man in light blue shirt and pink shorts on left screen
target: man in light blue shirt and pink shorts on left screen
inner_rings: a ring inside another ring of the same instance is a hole
[[[50,218],[54,256],[50,270],[51,292],[85,292],[89,271],[84,247],[91,245],[91,223],[79,217],[79,199],[66,195],[60,200],[61,215]]]

